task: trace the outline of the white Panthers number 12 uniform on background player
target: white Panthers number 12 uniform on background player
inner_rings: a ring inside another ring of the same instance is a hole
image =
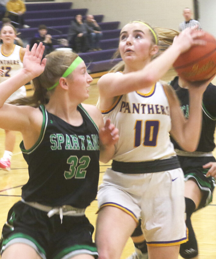
[[[13,51],[9,55],[5,55],[2,51],[2,45],[0,46],[0,68],[5,71],[5,73],[0,76],[0,83],[15,75],[23,68],[23,63],[20,59],[21,48],[22,47],[14,44]],[[16,92],[13,93],[6,102],[13,101],[24,96],[26,96],[26,88],[25,86],[22,86],[16,90]]]

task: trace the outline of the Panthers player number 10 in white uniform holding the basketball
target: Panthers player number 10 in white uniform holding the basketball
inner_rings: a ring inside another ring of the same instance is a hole
[[[196,28],[184,30],[151,61],[160,40],[155,31],[140,21],[121,30],[123,73],[108,73],[98,81],[104,118],[110,117],[120,127],[112,169],[105,172],[98,191],[99,259],[120,258],[140,216],[150,259],[178,258],[179,245],[187,239],[183,172],[168,136],[170,132],[188,151],[196,149],[202,94],[209,82],[190,85],[188,120],[171,87],[156,82],[182,52],[204,44],[199,40],[203,33]]]

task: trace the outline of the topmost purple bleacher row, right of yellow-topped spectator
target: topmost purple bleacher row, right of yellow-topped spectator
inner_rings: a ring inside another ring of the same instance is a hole
[[[56,9],[70,9],[72,2],[55,2],[55,3],[26,3],[27,11],[56,10]]]

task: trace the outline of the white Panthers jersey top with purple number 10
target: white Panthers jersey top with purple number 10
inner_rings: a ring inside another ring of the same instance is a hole
[[[153,85],[148,94],[133,91],[119,96],[112,107],[101,112],[104,121],[111,119],[119,129],[114,160],[140,162],[176,155],[169,137],[169,103],[161,83]]]

